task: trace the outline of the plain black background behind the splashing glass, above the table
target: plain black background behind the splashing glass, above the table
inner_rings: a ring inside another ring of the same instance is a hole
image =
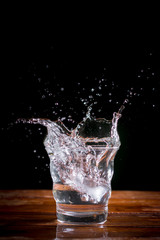
[[[17,118],[56,120],[72,115],[75,122],[66,125],[75,127],[86,111],[77,92],[86,88],[88,96],[98,86],[97,79],[105,76],[109,88],[102,90],[103,98],[94,109],[97,117],[111,118],[128,89],[139,93],[119,120],[121,148],[112,188],[160,190],[160,47],[155,10],[137,7],[131,13],[129,7],[123,15],[112,8],[109,16],[109,8],[105,11],[103,6],[94,11],[76,6],[74,11],[55,6],[19,9],[6,8],[2,21],[0,188],[52,188],[43,146],[46,129],[14,123]],[[109,102],[113,83],[118,87]],[[56,109],[54,115],[56,102],[62,111]]]

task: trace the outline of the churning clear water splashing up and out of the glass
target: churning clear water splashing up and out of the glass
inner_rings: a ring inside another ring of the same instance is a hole
[[[106,191],[110,195],[113,159],[120,147],[117,124],[122,108],[113,114],[112,120],[106,120],[93,118],[89,106],[86,117],[72,131],[60,120],[32,118],[18,119],[17,123],[47,127],[44,146],[53,182],[69,185],[83,201],[97,203]]]

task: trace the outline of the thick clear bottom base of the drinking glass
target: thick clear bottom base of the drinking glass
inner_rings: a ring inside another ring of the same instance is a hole
[[[68,224],[103,224],[108,207],[97,205],[57,204],[57,220]]]

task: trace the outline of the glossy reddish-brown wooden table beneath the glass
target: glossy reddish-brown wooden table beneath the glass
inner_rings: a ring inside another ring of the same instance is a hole
[[[1,190],[0,240],[160,239],[160,192],[113,191],[103,225],[56,220],[51,190]]]

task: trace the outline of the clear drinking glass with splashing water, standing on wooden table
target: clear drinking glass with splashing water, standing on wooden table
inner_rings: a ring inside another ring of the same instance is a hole
[[[108,215],[114,157],[120,146],[117,121],[87,116],[73,131],[45,120],[57,219],[72,224],[104,223]],[[43,120],[44,121],[44,120]]]

